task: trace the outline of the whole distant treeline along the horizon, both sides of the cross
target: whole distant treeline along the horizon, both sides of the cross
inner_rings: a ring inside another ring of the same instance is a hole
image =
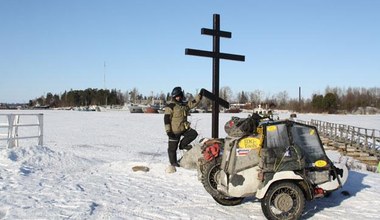
[[[194,94],[186,93],[186,97],[191,99]],[[288,109],[298,112],[328,112],[328,113],[350,113],[360,107],[374,107],[380,109],[380,89],[375,88],[331,88],[327,87],[324,94],[313,94],[310,98],[289,98],[286,91],[273,95],[266,95],[261,90],[253,92],[241,91],[233,94],[229,87],[222,87],[219,91],[221,98],[230,103],[249,104],[251,108],[268,106],[275,109]],[[62,94],[47,93],[29,101],[29,106],[49,106],[49,107],[69,107],[69,106],[89,106],[89,105],[124,105],[124,103],[152,102],[165,104],[170,100],[170,93],[151,94],[144,96],[136,88],[131,91],[121,92],[112,89],[92,89],[70,90]],[[201,108],[209,108],[211,101],[204,99]]]

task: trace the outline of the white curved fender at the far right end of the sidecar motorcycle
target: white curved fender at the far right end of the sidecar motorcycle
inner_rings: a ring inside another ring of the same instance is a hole
[[[348,169],[345,164],[334,164],[335,169],[330,173],[330,181],[319,184],[318,187],[326,191],[334,191],[342,187],[348,178]]]

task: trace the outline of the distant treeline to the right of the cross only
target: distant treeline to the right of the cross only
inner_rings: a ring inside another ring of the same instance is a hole
[[[310,98],[301,97],[301,99],[289,98],[286,91],[265,95],[261,90],[242,91],[237,94],[235,99],[231,99],[230,97],[233,97],[231,89],[223,87],[220,90],[220,96],[230,102],[251,103],[253,107],[261,104],[270,108],[297,112],[353,113],[366,107],[372,107],[377,112],[376,108],[380,109],[380,88],[377,87],[349,87],[347,89],[327,87],[324,94],[313,94]]]

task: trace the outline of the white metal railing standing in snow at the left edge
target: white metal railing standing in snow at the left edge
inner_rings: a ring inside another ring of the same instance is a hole
[[[0,114],[0,146],[19,146],[21,139],[38,139],[43,145],[43,114]],[[4,132],[4,133],[3,133]]]

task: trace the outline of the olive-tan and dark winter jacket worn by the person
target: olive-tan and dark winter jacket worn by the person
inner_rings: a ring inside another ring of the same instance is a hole
[[[188,103],[173,100],[165,107],[164,123],[166,132],[181,134],[190,128],[187,116],[192,108],[195,108],[201,101],[202,96],[197,95],[194,100]]]

